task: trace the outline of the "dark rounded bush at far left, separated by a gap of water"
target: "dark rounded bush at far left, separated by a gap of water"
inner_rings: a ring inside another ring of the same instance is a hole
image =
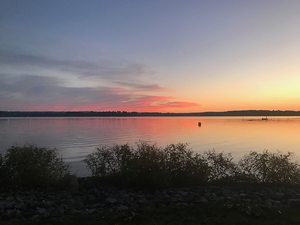
[[[57,185],[69,174],[69,166],[58,157],[56,149],[33,145],[10,147],[1,157],[2,180],[6,185],[45,187]]]

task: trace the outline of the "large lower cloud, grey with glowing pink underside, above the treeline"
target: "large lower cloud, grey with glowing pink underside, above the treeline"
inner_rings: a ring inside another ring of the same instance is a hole
[[[65,87],[63,80],[0,74],[0,110],[157,110],[193,106],[174,97],[138,95],[126,88]]]

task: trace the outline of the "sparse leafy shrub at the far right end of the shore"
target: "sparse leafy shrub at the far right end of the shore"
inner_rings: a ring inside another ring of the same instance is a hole
[[[240,181],[271,184],[299,184],[300,167],[292,153],[250,152],[239,164]]]

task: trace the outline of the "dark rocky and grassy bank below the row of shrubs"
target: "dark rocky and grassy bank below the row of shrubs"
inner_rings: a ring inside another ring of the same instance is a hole
[[[2,192],[1,224],[299,224],[298,187],[198,186],[162,190],[100,187]]]

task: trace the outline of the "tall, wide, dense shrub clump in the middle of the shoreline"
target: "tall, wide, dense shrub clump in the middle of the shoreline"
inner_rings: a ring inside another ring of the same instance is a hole
[[[84,162],[92,176],[126,186],[163,188],[197,185],[208,179],[208,166],[186,144],[159,148],[139,142],[136,148],[125,145],[97,148]]]

